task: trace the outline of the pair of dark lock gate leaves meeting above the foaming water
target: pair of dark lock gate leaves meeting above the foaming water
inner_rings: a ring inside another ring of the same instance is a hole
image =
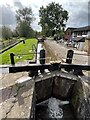
[[[69,100],[75,80],[60,76],[49,76],[48,78],[35,82],[36,102],[42,102],[50,97]]]

